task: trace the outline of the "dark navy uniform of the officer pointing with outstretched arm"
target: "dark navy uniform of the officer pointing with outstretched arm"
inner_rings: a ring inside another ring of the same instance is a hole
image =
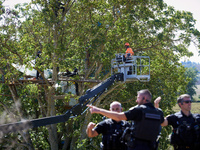
[[[163,112],[152,103],[133,107],[125,112],[127,120],[134,121],[133,138],[128,144],[129,150],[154,150],[164,121]]]

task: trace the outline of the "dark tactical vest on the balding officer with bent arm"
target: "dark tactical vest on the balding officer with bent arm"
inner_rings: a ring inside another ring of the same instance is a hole
[[[108,132],[102,137],[101,149],[102,150],[126,150],[126,145],[122,143],[121,136],[127,124],[121,121],[118,124],[113,123],[112,119],[105,120],[109,124],[106,129]]]

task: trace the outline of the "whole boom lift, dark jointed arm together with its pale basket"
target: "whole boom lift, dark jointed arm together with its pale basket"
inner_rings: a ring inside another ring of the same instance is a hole
[[[113,75],[92,89],[87,90],[86,94],[79,98],[79,103],[65,112],[65,114],[3,124],[0,125],[0,133],[6,134],[66,122],[70,118],[82,115],[87,110],[86,105],[94,103],[115,80],[123,82],[135,80],[146,82],[150,80],[150,58],[148,56],[131,56],[125,59],[124,54],[117,54],[116,58],[111,61],[111,66],[111,74]]]

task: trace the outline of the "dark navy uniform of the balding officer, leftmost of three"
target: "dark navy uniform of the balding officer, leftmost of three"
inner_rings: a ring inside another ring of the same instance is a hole
[[[130,124],[127,121],[116,122],[112,119],[101,121],[94,130],[102,134],[102,150],[127,150],[127,146],[121,142],[121,136],[126,127]]]

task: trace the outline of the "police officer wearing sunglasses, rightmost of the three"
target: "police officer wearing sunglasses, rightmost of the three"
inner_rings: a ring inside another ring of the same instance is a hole
[[[159,107],[160,100],[157,101]],[[181,111],[167,116],[162,126],[171,125],[173,132],[170,142],[174,150],[199,150],[200,149],[200,115],[192,114],[191,97],[183,94],[178,97],[177,103]]]

